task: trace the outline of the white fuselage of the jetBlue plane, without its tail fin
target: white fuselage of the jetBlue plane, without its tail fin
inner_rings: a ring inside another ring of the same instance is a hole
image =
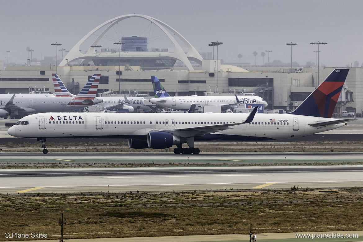
[[[264,104],[267,102],[258,96],[237,96],[241,104]],[[192,104],[197,106],[233,106],[237,104],[236,96],[183,96],[151,98],[151,103],[176,110],[189,110]],[[238,103],[238,104],[240,104]]]

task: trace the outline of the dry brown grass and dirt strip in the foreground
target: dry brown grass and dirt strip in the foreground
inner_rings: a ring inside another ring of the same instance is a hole
[[[0,234],[67,239],[363,230],[363,189],[1,194]],[[6,240],[6,239],[5,239]],[[9,239],[10,240],[10,239]]]

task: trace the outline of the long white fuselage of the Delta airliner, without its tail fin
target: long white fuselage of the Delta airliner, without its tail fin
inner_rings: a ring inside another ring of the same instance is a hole
[[[193,136],[198,127],[240,123],[248,114],[197,113],[44,113],[26,116],[8,134],[22,138],[139,138],[146,139],[149,132],[185,131]],[[253,122],[230,126],[210,134],[195,136],[198,140],[279,140],[333,130],[346,123],[321,128],[311,123],[337,120],[290,114],[256,114]],[[19,123],[18,122],[18,123]],[[185,134],[185,133],[184,133]],[[188,136],[187,136],[188,137]]]

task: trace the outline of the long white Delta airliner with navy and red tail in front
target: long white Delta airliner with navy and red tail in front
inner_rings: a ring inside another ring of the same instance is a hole
[[[20,119],[8,134],[42,141],[47,138],[128,139],[135,149],[165,149],[197,154],[195,141],[280,140],[333,130],[354,119],[331,118],[348,69],[335,69],[289,114],[213,113],[43,113]],[[188,148],[182,148],[186,143]]]

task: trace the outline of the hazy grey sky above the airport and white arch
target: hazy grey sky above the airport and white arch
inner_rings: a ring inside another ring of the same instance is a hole
[[[10,50],[9,62],[24,64],[28,54],[30,58],[27,47],[34,50],[33,58],[55,56],[51,43],[70,50],[96,26],[132,13],[165,22],[198,51],[212,52],[210,42],[223,42],[218,57],[225,62],[239,62],[242,54],[241,62],[254,64],[256,51],[256,64],[262,65],[260,53],[272,50],[270,62],[290,63],[286,43],[293,42],[298,44],[293,46],[293,61],[305,65],[316,62],[317,46],[309,43],[317,41],[328,43],[319,48],[320,64],[343,67],[363,62],[361,0],[0,0],[0,4],[0,59],[5,63]],[[103,48],[114,48],[113,42],[131,35],[149,37],[149,48],[172,46],[151,41],[158,30],[137,18],[121,21],[110,32],[99,42]]]

